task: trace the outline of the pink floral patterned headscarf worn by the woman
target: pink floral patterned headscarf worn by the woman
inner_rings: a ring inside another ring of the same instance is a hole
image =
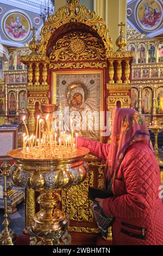
[[[111,145],[108,156],[107,184],[117,178],[126,149],[137,141],[145,141],[153,150],[146,121],[132,108],[117,108],[111,133]]]

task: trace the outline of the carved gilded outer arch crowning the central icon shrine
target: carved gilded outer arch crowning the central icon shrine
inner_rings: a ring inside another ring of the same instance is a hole
[[[90,31],[96,32],[104,44],[106,56],[112,51],[112,40],[108,35],[109,29],[103,19],[95,11],[80,5],[79,0],[67,0],[67,5],[51,15],[42,27],[39,53],[48,56],[49,42],[54,39],[59,28],[63,25],[66,28],[66,25],[70,26],[72,23],[82,23],[88,26]]]

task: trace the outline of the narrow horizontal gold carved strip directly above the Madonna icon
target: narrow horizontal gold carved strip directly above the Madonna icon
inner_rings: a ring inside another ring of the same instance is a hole
[[[84,69],[84,68],[106,68],[106,62],[74,62],[74,63],[52,63],[50,69]]]

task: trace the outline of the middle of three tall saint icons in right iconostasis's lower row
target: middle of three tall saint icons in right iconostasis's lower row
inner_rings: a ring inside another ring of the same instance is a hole
[[[152,89],[144,88],[142,91],[142,113],[152,113]]]

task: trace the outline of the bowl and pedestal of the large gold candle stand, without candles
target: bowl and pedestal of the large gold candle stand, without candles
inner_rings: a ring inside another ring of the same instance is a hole
[[[40,191],[37,202],[43,208],[37,212],[28,228],[32,239],[30,244],[39,237],[39,245],[59,245],[60,240],[65,244],[71,243],[68,235],[68,218],[57,209],[61,202],[58,193],[62,188],[78,185],[86,177],[87,166],[84,156],[89,153],[86,148],[79,147],[76,156],[65,159],[27,159],[22,156],[22,149],[10,150],[8,156],[15,160],[17,167],[13,173],[16,185]]]

